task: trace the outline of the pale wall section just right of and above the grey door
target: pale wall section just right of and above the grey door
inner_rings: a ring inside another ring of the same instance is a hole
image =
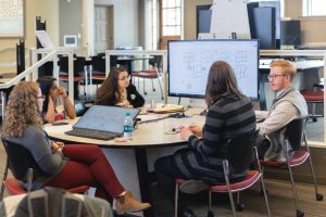
[[[113,5],[114,48],[140,44],[138,0],[95,0],[95,4]]]

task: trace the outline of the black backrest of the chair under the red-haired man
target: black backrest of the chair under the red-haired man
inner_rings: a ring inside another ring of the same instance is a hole
[[[305,118],[293,119],[286,126],[285,139],[291,144],[292,150],[298,150],[302,143]]]

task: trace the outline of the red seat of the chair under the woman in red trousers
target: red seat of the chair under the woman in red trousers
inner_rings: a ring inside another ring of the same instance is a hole
[[[26,189],[24,189],[22,181],[15,178],[5,179],[3,181],[3,184],[11,195],[17,195],[27,192]],[[79,186],[79,187],[67,189],[67,191],[71,193],[80,193],[87,191],[88,189],[89,186]]]

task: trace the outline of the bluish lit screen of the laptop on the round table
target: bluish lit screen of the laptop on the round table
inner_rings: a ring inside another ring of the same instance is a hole
[[[124,119],[129,112],[135,120],[139,108],[125,108],[117,106],[92,105],[73,128],[84,128],[122,133],[124,131]]]

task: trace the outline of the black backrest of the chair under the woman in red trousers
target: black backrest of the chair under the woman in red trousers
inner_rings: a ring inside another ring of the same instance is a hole
[[[40,174],[41,169],[26,148],[4,138],[2,138],[2,143],[8,156],[9,168],[16,179],[27,182],[28,168],[33,168],[34,178],[38,177],[37,174]]]

